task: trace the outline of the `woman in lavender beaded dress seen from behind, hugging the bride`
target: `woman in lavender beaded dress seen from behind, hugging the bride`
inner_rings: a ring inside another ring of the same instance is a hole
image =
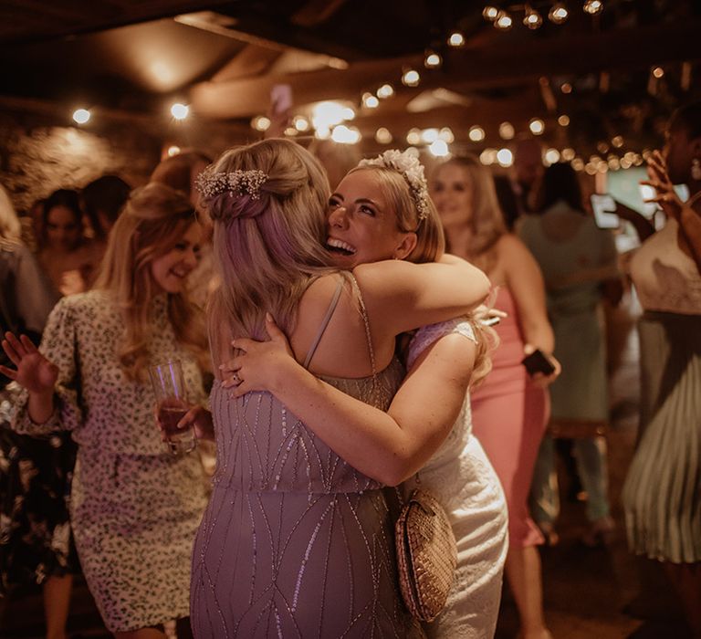
[[[273,394],[285,366],[269,391],[235,396],[220,366],[250,338],[266,339],[269,316],[312,387],[323,380],[386,410],[403,377],[396,336],[473,308],[487,279],[462,260],[403,261],[416,237],[397,228],[382,236],[397,259],[332,266],[329,185],[292,141],[227,151],[200,187],[222,284],[208,317],[217,470],[193,552],[194,635],[421,636],[400,599],[382,490],[400,481],[401,464],[385,463],[392,438],[370,421],[303,422]],[[395,226],[393,215],[366,209],[369,225]]]

